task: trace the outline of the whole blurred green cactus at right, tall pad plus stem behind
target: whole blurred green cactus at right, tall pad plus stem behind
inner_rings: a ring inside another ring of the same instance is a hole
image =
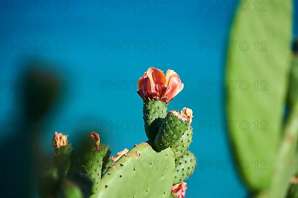
[[[243,45],[227,52],[226,80],[240,84],[227,90],[227,118],[244,124],[229,128],[229,136],[237,164],[249,164],[238,170],[252,197],[285,198],[298,166],[298,81],[297,69],[291,69],[293,2],[245,2],[257,3],[258,9],[239,8],[231,27],[230,42]]]

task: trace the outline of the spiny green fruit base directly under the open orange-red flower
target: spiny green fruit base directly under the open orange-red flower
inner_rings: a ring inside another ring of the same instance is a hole
[[[154,140],[162,120],[166,116],[166,103],[160,100],[145,101],[143,115],[146,135],[148,139]]]

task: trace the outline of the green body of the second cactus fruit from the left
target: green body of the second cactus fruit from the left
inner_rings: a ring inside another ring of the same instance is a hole
[[[96,142],[89,137],[80,147],[77,157],[78,168],[93,181],[92,193],[95,193],[98,190],[98,184],[101,178],[103,160],[99,140]]]

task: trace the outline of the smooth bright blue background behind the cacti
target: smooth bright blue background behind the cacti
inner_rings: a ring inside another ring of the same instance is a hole
[[[200,41],[214,43],[227,40],[234,14],[232,8],[200,9],[202,1],[169,0],[166,1],[168,4],[158,1],[156,11],[156,0],[149,0],[149,11],[142,10],[140,3],[136,11],[132,4],[128,11],[123,10],[126,5],[119,11],[115,7],[111,11],[109,7],[101,10],[100,1],[72,0],[68,3],[60,1],[57,11],[57,2],[48,2],[51,4],[49,11],[42,10],[40,4],[36,11],[34,7],[29,11],[22,8],[11,11],[1,7],[0,11],[1,41],[48,41],[51,44],[49,51],[40,45],[37,45],[36,51],[31,46],[27,52],[22,48],[19,51],[16,48],[12,51],[1,49],[0,79],[16,79],[22,70],[23,60],[38,56],[61,67],[63,79],[68,82],[66,89],[62,90],[66,94],[63,105],[55,109],[54,115],[44,118],[51,123],[42,139],[47,152],[52,151],[49,139],[55,131],[70,134],[70,141],[75,144],[78,140],[74,134],[79,128],[86,128],[86,132],[89,129],[99,130],[102,141],[111,146],[112,154],[145,141],[142,100],[136,93],[136,80],[149,66],[163,71],[171,68],[180,75],[185,86],[169,103],[168,109],[190,107],[194,111],[194,136],[190,150],[196,155],[198,166],[187,180],[187,197],[244,198],[247,195],[248,191],[230,161],[233,156],[227,132],[215,127],[200,127],[201,121],[215,123],[225,120],[224,91],[199,88],[201,80],[215,83],[224,78],[225,51],[214,48],[200,50]],[[65,6],[66,10],[62,11]],[[160,10],[164,6],[167,11]],[[44,7],[47,5],[44,4]],[[298,35],[297,26],[294,34]],[[55,45],[57,41],[60,42],[59,50]],[[101,49],[102,41],[112,41],[113,44],[124,41],[123,48],[120,46],[119,51],[116,47],[112,51],[109,47]],[[136,50],[131,43],[129,50],[125,51],[126,41],[139,41]],[[150,44],[148,51],[144,50],[146,45],[143,49],[140,46],[142,41]],[[154,45],[156,41],[159,43],[158,50]],[[68,51],[62,51],[65,44],[68,44]],[[167,51],[162,51],[161,47],[165,44]],[[107,86],[101,86],[103,83]],[[15,91],[1,89],[1,120],[17,111]],[[57,121],[60,124],[57,125]],[[64,121],[66,125],[61,124]],[[1,141],[10,135],[4,131],[1,126]],[[200,161],[205,160],[208,166],[200,166]],[[227,170],[220,165],[211,165],[223,160],[230,162]]]

